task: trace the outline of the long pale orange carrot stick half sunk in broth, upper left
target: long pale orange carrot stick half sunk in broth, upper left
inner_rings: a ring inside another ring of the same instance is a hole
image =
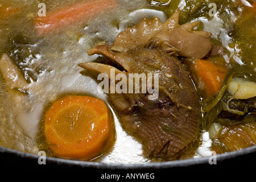
[[[95,15],[117,7],[116,0],[87,0],[74,3],[60,10],[46,13],[46,16],[34,20],[37,33],[61,30],[70,24],[86,21]]]

